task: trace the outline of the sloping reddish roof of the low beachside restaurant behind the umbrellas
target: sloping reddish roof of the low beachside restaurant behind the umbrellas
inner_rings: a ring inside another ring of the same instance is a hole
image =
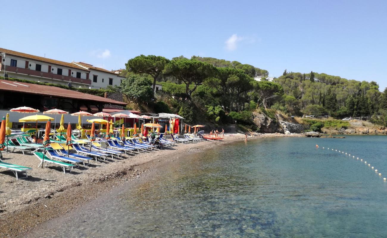
[[[116,101],[109,98],[103,98],[83,92],[78,92],[60,87],[46,86],[39,84],[28,84],[10,80],[0,80],[0,91],[24,92],[28,94],[38,94],[44,96],[53,96],[58,98],[84,99],[97,101],[100,103],[111,103],[116,105],[126,105],[124,102]]]

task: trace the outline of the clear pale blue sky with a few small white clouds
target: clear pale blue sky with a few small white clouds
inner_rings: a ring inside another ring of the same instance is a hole
[[[387,87],[387,1],[2,1],[0,48],[108,70],[214,57]]]

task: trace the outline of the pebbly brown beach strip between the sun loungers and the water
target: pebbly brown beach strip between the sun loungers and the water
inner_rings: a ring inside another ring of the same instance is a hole
[[[248,140],[300,136],[303,135],[259,134],[249,136]],[[244,140],[243,134],[225,134],[224,140],[219,141],[179,143],[178,146],[172,148],[137,153],[135,156],[127,155],[120,159],[110,158],[106,162],[93,161],[90,168],[75,168],[72,174],[63,174],[63,172],[52,168],[36,168],[38,159],[31,155],[4,153],[5,162],[23,164],[30,166],[33,170],[29,173],[28,179],[21,180],[16,180],[9,171],[1,171],[1,237],[15,237],[25,233],[38,224],[97,199],[116,186],[133,185],[140,176],[147,176],[150,171],[157,170],[161,164],[171,163],[179,157],[240,140]],[[15,158],[9,159],[10,155]],[[21,163],[21,160],[28,161],[32,165]],[[40,178],[34,177],[35,175]],[[55,178],[53,179],[53,177]]]

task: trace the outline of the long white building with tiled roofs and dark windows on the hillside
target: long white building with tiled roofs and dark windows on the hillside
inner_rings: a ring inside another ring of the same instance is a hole
[[[68,63],[0,48],[0,75],[51,84],[99,89],[120,85],[117,74],[86,63]]]

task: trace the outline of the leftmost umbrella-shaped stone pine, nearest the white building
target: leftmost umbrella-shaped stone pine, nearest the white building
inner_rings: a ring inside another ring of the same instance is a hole
[[[156,80],[162,74],[165,65],[169,61],[170,60],[162,56],[139,55],[128,60],[128,63],[125,63],[125,66],[129,72],[134,72],[135,74],[151,75],[153,78],[152,90],[154,92],[154,88],[156,87]]]

